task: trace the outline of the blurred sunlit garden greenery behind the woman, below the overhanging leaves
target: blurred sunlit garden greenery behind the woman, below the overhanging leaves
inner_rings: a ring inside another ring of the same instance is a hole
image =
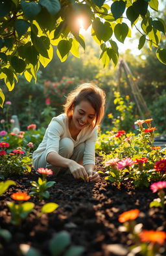
[[[163,19],[165,10],[159,14]],[[29,83],[21,76],[14,91],[5,91],[4,85],[6,101],[12,102],[10,115],[18,115],[21,129],[25,130],[30,123],[37,124],[38,128],[46,128],[54,115],[63,112],[62,105],[69,91],[80,83],[92,82],[106,92],[106,115],[101,124],[102,130],[112,130],[114,127],[132,132],[134,121],[152,117],[158,132],[165,134],[166,66],[156,61],[156,49],[150,51],[147,46],[139,55],[126,50],[119,58],[119,63],[123,59],[128,64],[132,79],[147,104],[148,113],[144,112],[141,116],[124,70],[119,76],[119,64],[116,67],[109,64],[103,68],[98,59],[100,48],[88,37],[88,32],[84,36],[87,47],[86,52],[80,48],[80,59],[69,55],[61,63],[54,46],[53,60],[46,68],[40,67],[37,83],[34,80]],[[0,109],[1,119],[5,119],[5,107]],[[1,123],[0,130],[3,130]]]

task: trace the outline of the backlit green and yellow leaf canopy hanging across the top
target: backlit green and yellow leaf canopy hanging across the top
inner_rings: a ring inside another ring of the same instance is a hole
[[[166,49],[160,47],[166,24],[158,18],[158,0],[0,0],[0,76],[9,91],[14,89],[18,74],[27,81],[36,80],[40,63],[45,67],[53,58],[53,46],[63,62],[69,52],[79,57],[78,48],[86,48],[80,34],[78,18],[84,28],[91,25],[91,36],[101,46],[104,66],[117,64],[116,38],[124,43],[132,27],[140,32],[138,48],[156,48],[156,56],[166,64]],[[109,3],[109,5],[108,5]],[[152,17],[150,11],[156,11]],[[128,22],[129,21],[129,22]],[[5,95],[0,88],[0,106]]]

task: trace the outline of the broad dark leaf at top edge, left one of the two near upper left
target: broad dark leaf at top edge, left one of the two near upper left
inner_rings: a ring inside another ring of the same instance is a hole
[[[42,10],[42,7],[39,3],[25,2],[23,0],[21,0],[21,7],[23,8],[25,16],[29,20],[33,20],[35,16]]]

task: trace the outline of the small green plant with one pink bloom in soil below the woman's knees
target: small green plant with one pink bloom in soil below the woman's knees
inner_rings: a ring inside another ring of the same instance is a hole
[[[42,173],[42,178],[38,178],[38,182],[36,181],[31,181],[30,184],[34,187],[31,189],[31,192],[29,195],[38,195],[40,201],[43,198],[48,199],[49,198],[49,191],[47,188],[51,188],[56,182],[55,181],[48,181],[47,182],[47,175],[53,175],[53,171],[49,169],[44,169],[44,168],[38,168],[38,173]]]

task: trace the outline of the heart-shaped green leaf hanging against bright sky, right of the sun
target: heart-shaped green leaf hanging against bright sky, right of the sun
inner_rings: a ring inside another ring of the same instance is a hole
[[[125,38],[128,35],[128,25],[126,25],[126,23],[118,23],[115,25],[114,34],[119,42],[124,43]]]

